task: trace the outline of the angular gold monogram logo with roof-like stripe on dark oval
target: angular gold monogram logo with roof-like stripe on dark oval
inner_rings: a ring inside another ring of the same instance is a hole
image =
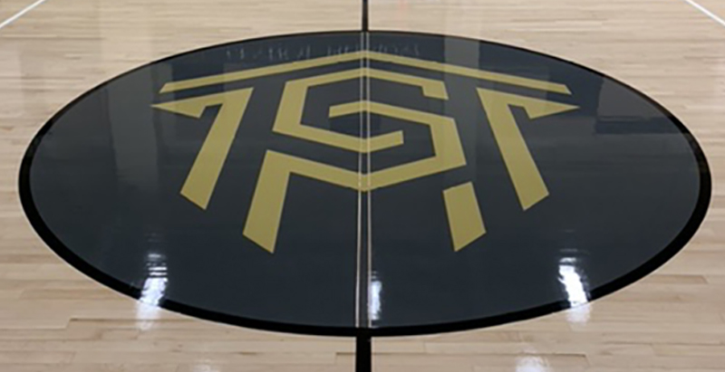
[[[538,81],[497,72],[480,71],[440,62],[368,51],[333,55],[303,62],[290,62],[241,72],[228,72],[186,81],[172,81],[165,84],[160,93],[184,91],[231,81],[244,81],[273,74],[362,60],[394,63],[420,70],[456,74],[471,79],[496,81],[536,91],[571,94],[565,85],[550,81]],[[285,136],[304,138],[325,146],[343,148],[361,154],[372,154],[383,149],[402,146],[404,136],[401,131],[370,138],[360,138],[315,128],[302,122],[304,102],[310,88],[361,78],[406,84],[420,88],[420,94],[427,98],[449,100],[446,85],[443,81],[369,67],[330,72],[285,83],[273,130],[275,133]],[[192,118],[200,118],[204,110],[209,107],[219,107],[217,118],[214,120],[207,138],[194,164],[191,166],[189,176],[187,176],[186,182],[181,188],[181,195],[202,209],[207,208],[209,199],[214,193],[219,174],[222,167],[224,167],[237,129],[245,120],[244,114],[247,110],[247,103],[253,91],[254,88],[224,91],[217,94],[159,103],[153,106],[155,109],[166,110]],[[575,110],[576,107],[503,91],[484,88],[478,88],[477,91],[478,99],[488,117],[490,128],[506,164],[511,182],[516,189],[520,206],[527,210],[546,198],[548,190],[534,159],[529,153],[526,141],[517,127],[511,107],[524,109],[530,119]],[[248,211],[247,223],[244,226],[244,235],[248,239],[259,244],[266,251],[274,253],[276,237],[285,205],[288,181],[292,174],[367,193],[377,188],[399,185],[422,176],[430,176],[465,167],[467,164],[456,121],[452,118],[370,100],[348,102],[329,109],[330,119],[354,113],[377,114],[428,127],[435,155],[400,166],[361,174],[303,157],[266,150],[266,156],[256,184],[256,191]],[[254,123],[249,124],[253,125]],[[455,251],[465,248],[486,234],[483,216],[478,207],[478,200],[472,182],[442,190],[442,196],[448,215],[452,246]]]

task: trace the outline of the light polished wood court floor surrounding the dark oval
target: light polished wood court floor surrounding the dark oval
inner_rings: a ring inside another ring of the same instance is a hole
[[[32,0],[0,0],[0,22]],[[725,17],[721,0],[701,5]],[[353,0],[47,0],[0,29],[0,370],[352,371],[353,342],[238,329],[137,304],[57,258],[17,195],[34,133],[140,64],[275,33],[355,29]],[[675,259],[589,307],[376,341],[380,372],[725,371],[725,27],[683,0],[372,0],[372,29],[523,46],[626,81],[709,157],[709,215]]]

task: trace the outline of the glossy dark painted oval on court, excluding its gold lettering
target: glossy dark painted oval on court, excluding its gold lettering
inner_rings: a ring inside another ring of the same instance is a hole
[[[445,102],[376,79],[370,98],[455,119],[467,166],[372,193],[369,295],[356,288],[359,195],[352,189],[293,175],[275,253],[267,253],[242,234],[266,150],[348,170],[361,160],[272,132],[285,81],[358,68],[360,61],[160,90],[169,81],[356,52],[361,40],[360,33],[340,32],[228,43],[103,83],[34,138],[20,176],[25,213],[64,260],[116,291],[203,319],[341,336],[480,328],[563,310],[652,272],[701,224],[710,201],[701,148],[643,94],[572,62],[507,45],[372,32],[374,52],[553,81],[571,94],[370,62],[445,82]],[[360,115],[327,119],[327,110],[360,100],[361,81],[311,89],[304,120],[359,136]],[[151,105],[248,87],[254,92],[244,119],[208,208],[201,209],[179,190],[218,107],[197,119]],[[527,210],[477,88],[578,107],[537,119],[511,108],[549,192]],[[371,130],[372,136],[402,130],[405,138],[401,147],[373,153],[373,171],[434,155],[424,126],[372,115]],[[454,252],[442,192],[466,182],[475,186],[486,234]],[[358,308],[372,309],[370,325],[356,319]]]

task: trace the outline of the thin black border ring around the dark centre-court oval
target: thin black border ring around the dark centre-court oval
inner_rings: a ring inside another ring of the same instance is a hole
[[[27,215],[28,220],[33,225],[35,232],[41,237],[43,242],[48,244],[48,246],[55,252],[58,256],[60,256],[65,262],[70,263],[76,270],[82,272],[86,276],[91,277],[94,281],[99,281],[103,285],[110,287],[114,291],[119,291],[127,296],[130,296],[133,299],[139,300],[141,295],[141,289],[137,287],[133,287],[129,285],[128,283],[125,283],[123,281],[119,281],[111,275],[106,274],[105,272],[100,271],[99,269],[92,266],[90,263],[83,261],[78,255],[73,253],[68,247],[66,247],[63,242],[61,242],[54,234],[51,232],[50,228],[43,222],[43,219],[41,218],[40,214],[38,213],[38,210],[35,208],[33,196],[30,192],[30,168],[33,165],[33,158],[36,149],[40,145],[41,141],[43,140],[43,137],[45,134],[47,134],[48,130],[53,126],[53,123],[60,119],[63,114],[70,110],[75,104],[77,104],[80,100],[83,100],[86,96],[92,94],[95,91],[98,91],[102,89],[104,86],[108,85],[112,81],[119,80],[123,78],[124,76],[136,72],[140,69],[146,68],[152,64],[165,62],[173,58],[177,58],[183,55],[187,55],[190,53],[196,53],[196,52],[203,52],[209,49],[219,48],[227,45],[232,45],[236,43],[244,43],[244,42],[259,42],[259,41],[272,41],[275,39],[281,39],[281,38],[287,38],[292,36],[315,36],[315,35],[323,35],[323,34],[343,34],[343,33],[361,33],[360,31],[331,31],[331,32],[314,32],[314,33],[291,33],[291,34],[283,34],[283,35],[273,35],[273,36],[263,36],[258,38],[252,38],[247,39],[243,41],[236,41],[236,42],[229,42],[229,43],[221,43],[217,45],[211,45],[203,48],[198,48],[189,52],[181,52],[179,54],[174,54],[172,56],[160,59],[158,61],[149,62],[146,64],[143,64],[139,67],[136,67],[128,72],[123,72],[120,75],[112,78],[111,80],[104,81],[101,84],[95,86],[90,91],[84,92],[81,96],[76,98],[75,100],[71,101],[71,103],[65,105],[62,110],[58,111],[53,117],[46,122],[43,127],[35,134],[34,138],[30,142],[30,145],[28,146],[28,149],[25,152],[25,155],[23,157],[23,161],[21,163],[20,167],[20,175],[19,175],[19,194],[20,194],[20,201],[23,205],[24,213]],[[694,154],[699,168],[700,168],[700,195],[698,196],[697,204],[695,205],[695,209],[692,212],[692,215],[690,217],[690,220],[688,220],[687,224],[685,224],[684,228],[681,230],[680,234],[677,234],[677,236],[672,240],[671,243],[669,243],[660,253],[652,257],[648,262],[644,262],[642,266],[634,270],[633,272],[628,272],[627,274],[623,275],[620,278],[615,279],[614,281],[610,281],[607,284],[604,284],[603,286],[597,287],[592,291],[589,291],[590,296],[590,302],[597,300],[599,298],[602,298],[608,294],[613,293],[614,291],[619,291],[623,289],[624,287],[633,284],[635,281],[639,281],[644,276],[650,274],[651,272],[654,272],[656,269],[658,269],[660,266],[662,266],[665,262],[668,262],[672,257],[679,253],[681,249],[687,244],[692,236],[697,232],[698,228],[700,227],[705,215],[707,214],[708,208],[710,206],[710,196],[712,192],[712,180],[710,176],[710,167],[708,166],[707,158],[705,157],[704,152],[702,151],[700,144],[698,144],[697,140],[692,136],[689,129],[687,129],[684,124],[680,121],[680,119],[677,119],[669,110],[665,109],[660,103],[658,103],[655,100],[652,100],[648,96],[644,95],[641,91],[638,91],[634,89],[632,86],[623,83],[622,81],[618,81],[608,75],[605,75],[602,72],[594,71],[593,69],[590,69],[588,67],[585,67],[581,64],[566,61],[565,59],[552,56],[543,52],[536,52],[532,51],[526,48],[508,45],[505,43],[497,43],[497,42],[487,42],[482,40],[477,40],[469,37],[462,37],[462,36],[453,36],[453,35],[441,35],[441,34],[435,34],[435,33],[417,33],[417,32],[402,32],[402,31],[384,31],[384,30],[375,30],[372,31],[372,33],[395,33],[400,35],[420,35],[420,36],[435,36],[435,37],[448,37],[448,38],[457,38],[459,40],[463,41],[469,41],[474,43],[489,43],[493,45],[498,45],[502,47],[507,47],[511,49],[517,49],[522,52],[529,52],[538,54],[541,56],[544,56],[546,58],[550,58],[552,60],[558,61],[558,62],[564,62],[567,64],[570,64],[574,66],[575,68],[579,68],[582,70],[585,70],[586,72],[594,73],[594,75],[603,77],[605,79],[609,79],[611,81],[614,81],[620,85],[622,85],[625,89],[629,91],[633,91],[635,94],[637,94],[639,97],[643,98],[643,100],[646,100],[654,108],[662,112],[668,119],[671,119],[672,122],[677,126],[678,129],[680,129],[680,132],[682,136],[687,138],[688,143],[690,144],[690,147],[692,149],[692,153]],[[236,315],[229,315],[225,313],[220,313],[212,310],[203,310],[196,308],[194,306],[189,306],[184,303],[176,302],[173,300],[161,300],[159,307],[165,310],[170,310],[174,312],[179,312],[181,314],[199,318],[203,320],[211,320],[215,322],[220,323],[226,323],[229,325],[234,326],[241,326],[246,327],[250,329],[262,329],[262,330],[270,330],[270,331],[279,331],[279,332],[285,332],[285,333],[296,333],[296,334],[304,334],[304,335],[317,335],[317,336],[343,336],[343,337],[391,337],[391,336],[414,336],[414,335],[424,335],[424,334],[431,334],[431,333],[441,333],[441,332],[453,332],[453,331],[460,331],[460,330],[467,330],[467,329],[480,329],[480,328],[487,328],[492,326],[498,326],[506,323],[516,322],[520,320],[529,320],[533,318],[538,318],[553,312],[561,311],[561,310],[567,310],[572,308],[569,301],[566,300],[560,300],[556,302],[552,302],[546,305],[538,306],[536,308],[528,309],[528,310],[520,310],[515,311],[507,314],[498,315],[495,317],[488,317],[488,318],[482,318],[478,320],[462,320],[462,321],[456,321],[456,322],[448,322],[448,323],[440,323],[440,324],[430,324],[430,325],[422,325],[422,326],[400,326],[400,327],[390,327],[390,328],[378,328],[378,329],[367,329],[367,328],[349,328],[349,327],[324,327],[324,326],[305,326],[300,324],[291,324],[291,323],[281,323],[281,322],[275,322],[275,321],[269,321],[269,320],[254,320],[254,319],[248,319],[244,317],[239,317]]]

